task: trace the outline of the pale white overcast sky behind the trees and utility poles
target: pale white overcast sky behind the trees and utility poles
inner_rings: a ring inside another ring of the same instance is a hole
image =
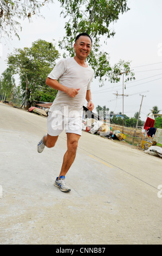
[[[162,113],[162,1],[129,0],[128,7],[131,10],[121,15],[112,26],[116,34],[114,38],[107,40],[104,50],[109,53],[112,65],[120,59],[131,60],[136,80],[126,84],[124,94],[129,96],[124,97],[124,113],[133,117],[140,108],[140,95],[145,95],[140,114],[145,121],[155,105]],[[7,68],[5,59],[14,48],[31,47],[32,42],[37,39],[55,39],[57,43],[63,38],[65,20],[60,17],[60,12],[60,4],[57,2],[44,6],[41,13],[45,19],[33,18],[30,23],[28,20],[22,21],[20,40],[15,36],[13,40],[1,39],[0,74]],[[56,48],[59,50],[57,44]],[[122,97],[116,98],[114,95],[116,91],[122,94],[122,79],[119,83],[105,82],[104,87],[99,87],[98,81],[93,80],[91,88],[95,107],[106,105],[114,113],[122,112]]]

